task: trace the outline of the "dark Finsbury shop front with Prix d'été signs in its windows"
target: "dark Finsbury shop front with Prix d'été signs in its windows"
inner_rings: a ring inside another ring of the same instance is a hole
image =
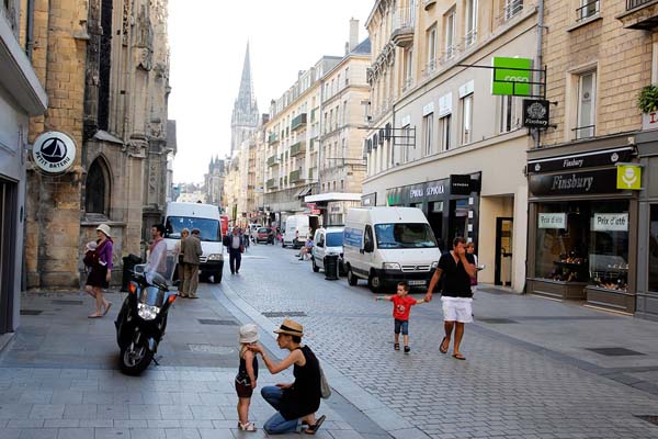
[[[529,153],[527,291],[634,313],[638,204],[623,166],[635,149],[592,144]]]

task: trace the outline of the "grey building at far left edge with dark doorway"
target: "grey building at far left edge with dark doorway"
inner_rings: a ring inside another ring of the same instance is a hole
[[[48,101],[27,15],[19,0],[0,3],[0,334],[20,325],[29,125]]]

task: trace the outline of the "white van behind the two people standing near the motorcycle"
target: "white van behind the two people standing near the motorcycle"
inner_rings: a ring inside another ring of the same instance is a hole
[[[164,240],[167,250],[173,251],[175,243],[181,238],[181,230],[194,228],[201,230],[201,274],[213,277],[213,282],[222,282],[224,270],[224,246],[222,245],[222,225],[219,209],[212,204],[167,203],[164,213]]]

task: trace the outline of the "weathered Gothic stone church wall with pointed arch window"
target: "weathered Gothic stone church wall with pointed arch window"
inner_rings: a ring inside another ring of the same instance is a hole
[[[49,105],[30,138],[69,134],[71,171],[29,171],[27,288],[78,288],[95,227],[112,227],[114,258],[140,255],[167,199],[169,47],[167,0],[37,0],[34,65]]]

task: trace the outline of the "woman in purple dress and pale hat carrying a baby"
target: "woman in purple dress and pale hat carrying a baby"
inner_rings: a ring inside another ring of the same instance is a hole
[[[92,261],[91,272],[87,277],[87,286],[91,288],[91,295],[95,299],[95,312],[90,314],[89,318],[103,317],[110,311],[112,302],[103,297],[103,289],[110,285],[112,277],[112,233],[107,224],[101,224],[97,227],[97,247],[93,255],[90,255]]]

